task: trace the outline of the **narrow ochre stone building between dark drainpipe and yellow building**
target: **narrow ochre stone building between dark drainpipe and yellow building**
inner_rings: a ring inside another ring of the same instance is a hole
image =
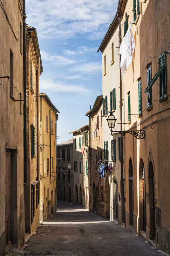
[[[33,233],[39,226],[39,76],[43,72],[37,32],[27,27],[26,95],[27,95],[27,182],[24,186],[25,232]],[[37,97],[35,97],[37,96]],[[37,145],[37,146],[36,146]]]

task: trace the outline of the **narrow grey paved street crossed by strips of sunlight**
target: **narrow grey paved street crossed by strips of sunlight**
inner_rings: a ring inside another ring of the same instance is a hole
[[[23,255],[163,255],[128,229],[61,201],[57,201],[57,216],[44,221],[23,250]]]

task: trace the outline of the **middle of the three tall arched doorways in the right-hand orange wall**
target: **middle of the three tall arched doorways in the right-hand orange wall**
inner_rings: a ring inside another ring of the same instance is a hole
[[[146,232],[146,176],[142,158],[139,163],[139,219],[140,230]]]

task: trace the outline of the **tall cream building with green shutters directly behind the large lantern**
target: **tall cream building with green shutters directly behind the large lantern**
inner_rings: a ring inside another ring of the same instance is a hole
[[[112,112],[117,119],[115,131],[125,129],[124,78],[120,76],[119,72],[119,46],[122,39],[122,21],[120,21],[119,16],[115,15],[99,46],[98,52],[100,50],[102,53],[104,160],[108,161],[108,164],[112,163],[113,168],[105,178],[108,190],[110,190],[108,192],[110,194],[110,219],[125,225],[124,139],[121,133],[113,133],[112,136],[107,122],[107,117]]]

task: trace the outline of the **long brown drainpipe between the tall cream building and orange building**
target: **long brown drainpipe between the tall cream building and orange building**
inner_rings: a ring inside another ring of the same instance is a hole
[[[120,36],[121,36],[121,25],[120,25],[120,16],[118,15],[119,19],[119,48],[120,48]],[[120,61],[121,61],[121,54],[119,54],[119,73],[120,73],[120,130],[122,131],[122,72],[120,68]],[[123,135],[120,134],[121,138],[121,180],[125,181],[123,178]]]

